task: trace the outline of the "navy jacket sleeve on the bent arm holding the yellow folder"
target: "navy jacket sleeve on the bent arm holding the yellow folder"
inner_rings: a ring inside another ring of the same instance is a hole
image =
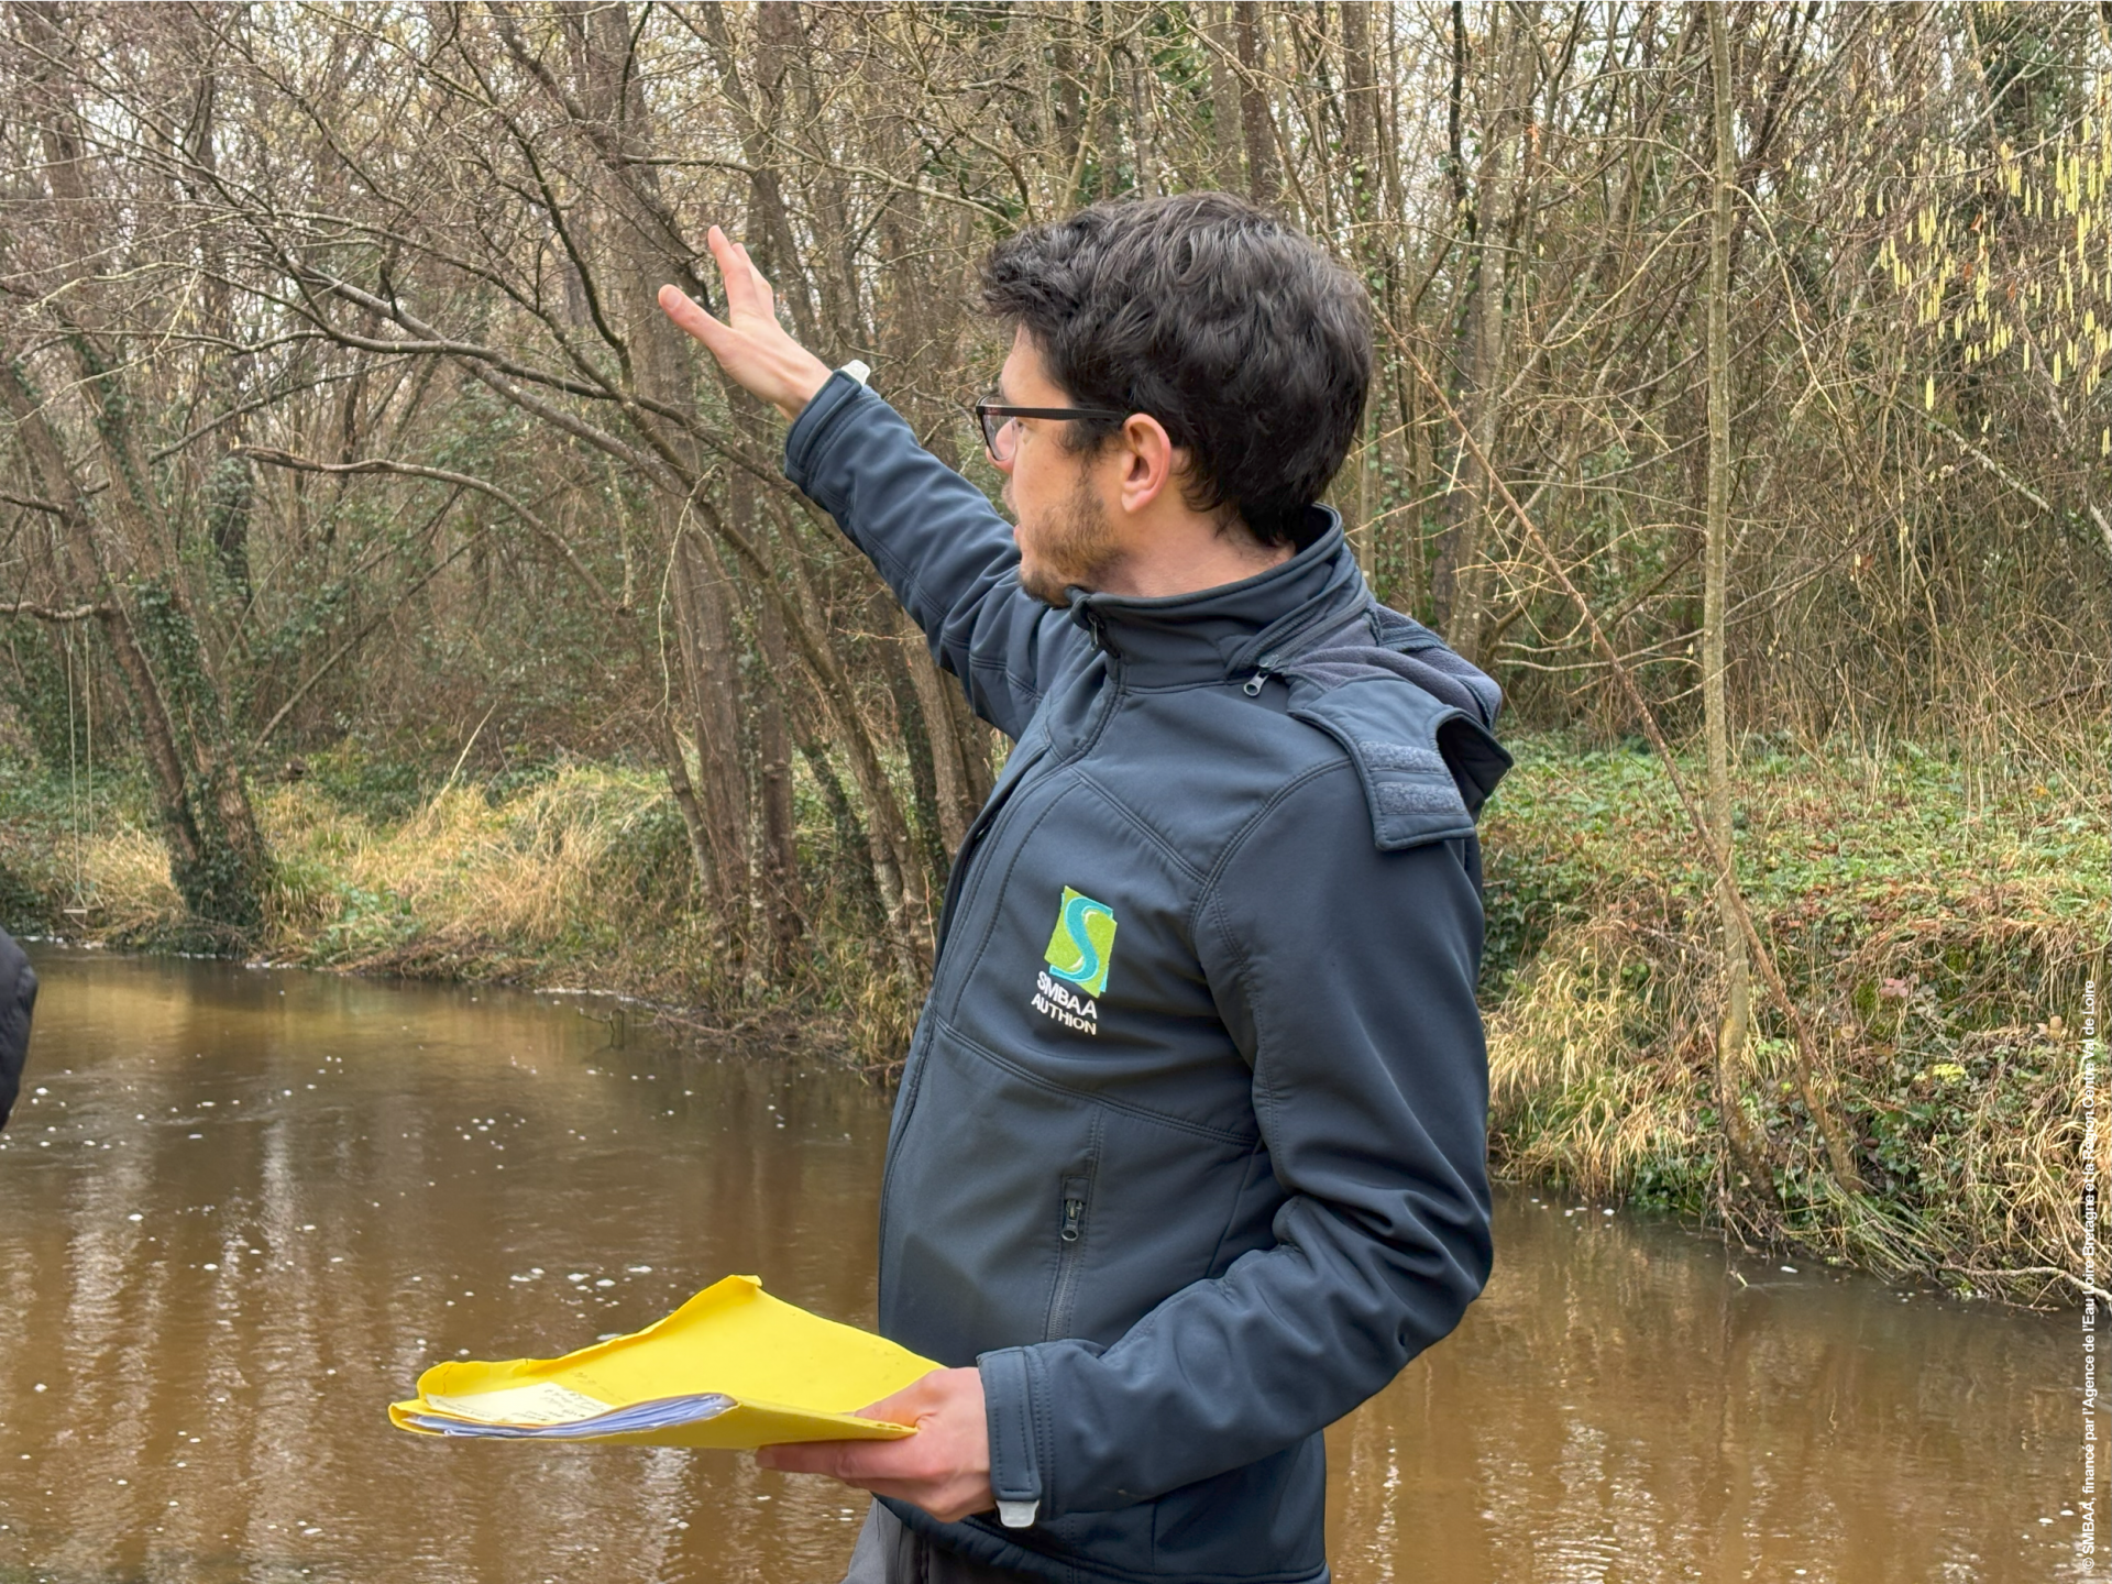
[[[1257,817],[1198,908],[1288,1200],[1276,1244],[1111,1347],[984,1354],[991,1483],[1039,1516],[1267,1457],[1379,1392],[1489,1278],[1489,1064],[1472,836],[1371,841],[1347,762]]]

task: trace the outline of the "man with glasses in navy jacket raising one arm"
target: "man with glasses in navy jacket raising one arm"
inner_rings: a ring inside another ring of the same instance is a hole
[[[881,1189],[895,1442],[855,1584],[1326,1580],[1320,1432],[1489,1274],[1474,811],[1497,691],[1333,511],[1362,287],[1225,194],[999,245],[1007,530],[714,228],[663,308],[1016,739],[955,860]]]

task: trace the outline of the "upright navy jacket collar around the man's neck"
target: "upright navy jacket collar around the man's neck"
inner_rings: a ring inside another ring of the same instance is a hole
[[[1371,604],[1333,507],[1324,532],[1288,562],[1240,583],[1140,600],[1073,589],[1071,619],[1115,659],[1130,686],[1223,682],[1271,672],[1322,627]]]

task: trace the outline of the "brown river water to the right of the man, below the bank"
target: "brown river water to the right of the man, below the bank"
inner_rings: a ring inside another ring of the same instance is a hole
[[[2070,1326],[1525,1193],[1497,1261],[1331,1436],[1341,1584],[2097,1578]]]

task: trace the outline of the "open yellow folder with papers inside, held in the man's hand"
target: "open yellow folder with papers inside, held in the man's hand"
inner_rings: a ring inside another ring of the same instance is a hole
[[[853,1409],[938,1369],[885,1337],[773,1299],[729,1276],[631,1337],[564,1358],[435,1364],[399,1430],[482,1440],[604,1440],[750,1449],[786,1440],[893,1440],[910,1426]]]

